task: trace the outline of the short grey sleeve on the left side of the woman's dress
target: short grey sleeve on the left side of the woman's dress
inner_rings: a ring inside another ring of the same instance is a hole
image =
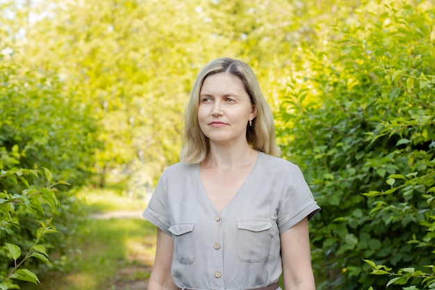
[[[165,172],[163,172],[160,179],[158,179],[156,189],[151,196],[151,200],[149,200],[148,207],[142,213],[142,216],[171,236],[172,234],[169,231],[170,216],[166,188],[166,175]]]

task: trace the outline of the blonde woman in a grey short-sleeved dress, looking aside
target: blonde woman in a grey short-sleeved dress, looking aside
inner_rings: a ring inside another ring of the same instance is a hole
[[[308,221],[320,208],[274,139],[251,68],[208,63],[186,109],[181,162],[143,213],[158,227],[149,290],[276,290],[281,273],[285,289],[315,289]]]

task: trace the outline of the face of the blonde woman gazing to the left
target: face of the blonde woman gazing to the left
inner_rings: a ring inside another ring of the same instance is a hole
[[[256,117],[242,81],[233,74],[221,72],[207,76],[199,92],[199,127],[210,143],[231,145],[247,142],[249,120]]]

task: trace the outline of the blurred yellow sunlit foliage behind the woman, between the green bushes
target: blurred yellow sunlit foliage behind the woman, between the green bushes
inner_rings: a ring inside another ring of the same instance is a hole
[[[233,56],[269,78],[269,63],[290,43],[281,27],[298,24],[289,23],[298,11],[284,0],[51,0],[26,9],[39,17],[20,42],[33,57],[20,60],[53,67],[72,92],[65,99],[92,107],[104,143],[96,152],[99,184],[115,169],[131,176],[129,184],[151,188],[178,161],[183,108],[199,68]]]

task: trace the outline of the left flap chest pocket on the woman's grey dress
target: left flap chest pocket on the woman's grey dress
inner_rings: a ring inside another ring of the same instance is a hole
[[[181,264],[192,264],[195,261],[195,237],[192,223],[171,225],[169,231],[174,241],[174,257]]]

